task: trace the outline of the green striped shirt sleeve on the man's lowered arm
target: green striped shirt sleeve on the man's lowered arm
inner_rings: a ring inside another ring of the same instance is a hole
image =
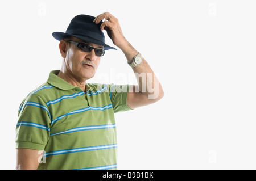
[[[43,150],[49,140],[50,125],[46,103],[38,95],[28,95],[18,111],[16,148]]]

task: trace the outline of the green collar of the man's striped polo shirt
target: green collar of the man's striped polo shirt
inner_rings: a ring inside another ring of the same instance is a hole
[[[51,73],[49,73],[49,78],[47,80],[48,83],[51,85],[58,87],[61,90],[70,90],[76,88],[75,86],[71,85],[70,83],[64,81],[64,79],[60,78],[58,76],[60,70],[53,70]],[[92,87],[86,83],[85,91],[92,90]]]

